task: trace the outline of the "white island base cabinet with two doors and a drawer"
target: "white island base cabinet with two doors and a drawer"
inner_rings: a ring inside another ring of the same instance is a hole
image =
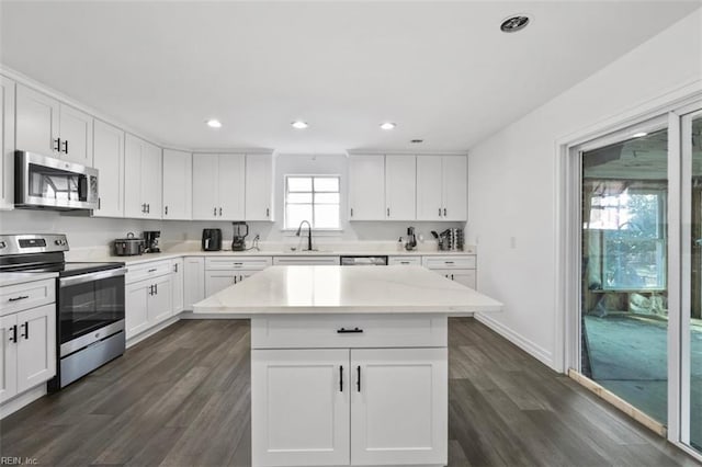
[[[420,346],[400,343],[401,349],[377,348],[383,340],[372,321],[363,324],[352,316],[341,331],[329,329],[320,339],[329,319],[307,317],[293,326],[309,330],[307,349],[276,348],[276,335],[280,343],[285,337],[275,330],[290,329],[287,321],[253,319],[260,321],[252,321],[251,338],[253,466],[445,466],[445,318],[431,321],[444,331],[441,342],[416,329],[408,335],[422,334]],[[400,318],[399,326],[430,322],[415,319]],[[324,348],[329,339],[351,348]]]

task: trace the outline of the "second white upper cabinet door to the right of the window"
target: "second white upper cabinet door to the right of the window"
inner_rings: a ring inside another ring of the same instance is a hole
[[[415,220],[417,193],[415,156],[385,156],[385,218]]]

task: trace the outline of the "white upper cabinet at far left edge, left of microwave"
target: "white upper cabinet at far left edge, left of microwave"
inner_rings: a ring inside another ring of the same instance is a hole
[[[0,209],[14,207],[14,81],[0,76]]]

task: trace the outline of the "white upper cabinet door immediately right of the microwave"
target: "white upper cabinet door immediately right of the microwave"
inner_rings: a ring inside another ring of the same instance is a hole
[[[95,121],[92,167],[99,171],[95,217],[124,217],[124,132]]]

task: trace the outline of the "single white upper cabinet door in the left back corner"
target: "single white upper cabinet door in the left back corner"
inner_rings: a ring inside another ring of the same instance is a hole
[[[192,219],[192,153],[163,149],[163,219]]]

